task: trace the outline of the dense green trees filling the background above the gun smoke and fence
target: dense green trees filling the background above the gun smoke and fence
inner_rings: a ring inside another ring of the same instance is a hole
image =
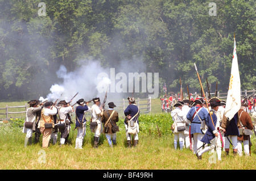
[[[179,78],[199,90],[218,82],[227,91],[236,33],[242,89],[256,83],[255,1],[216,1],[210,16],[205,0],[0,0],[0,99],[31,99],[47,94],[56,70],[68,71],[92,58],[114,68],[123,60],[142,60],[159,72],[160,87],[179,91]],[[47,92],[47,93],[46,93]]]

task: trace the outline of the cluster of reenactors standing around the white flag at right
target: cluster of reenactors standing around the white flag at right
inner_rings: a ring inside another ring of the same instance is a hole
[[[255,128],[246,111],[247,101],[241,102],[241,109],[230,121],[224,115],[225,104],[225,101],[216,97],[208,101],[203,98],[196,98],[194,101],[178,100],[174,104],[175,109],[171,111],[175,149],[179,142],[180,149],[184,145],[198,159],[201,159],[203,153],[216,149],[217,158],[221,161],[222,148],[229,155],[231,144],[234,155],[238,153],[241,156],[243,151],[245,155],[250,155],[250,137],[253,131],[255,133]],[[253,112],[253,117],[256,119],[256,112]]]

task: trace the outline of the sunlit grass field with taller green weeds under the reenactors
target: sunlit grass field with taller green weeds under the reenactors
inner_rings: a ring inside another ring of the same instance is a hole
[[[5,103],[1,103],[2,105]],[[8,103],[8,105],[12,103]],[[14,103],[17,106],[17,103]],[[75,149],[77,131],[72,131],[67,145],[50,144],[42,148],[42,136],[38,144],[24,148],[22,128],[10,123],[0,124],[0,169],[3,170],[251,170],[255,169],[255,135],[251,138],[251,157],[229,157],[222,152],[222,161],[217,161],[216,152],[203,154],[201,161],[189,149],[174,150],[174,135],[171,134],[170,115],[161,113],[159,99],[152,100],[151,115],[141,116],[141,132],[137,148],[126,145],[123,120],[118,125],[117,145],[109,148],[105,135],[100,138],[98,149],[93,149],[93,133],[87,123],[83,149]],[[157,105],[158,104],[158,105]],[[5,106],[0,107],[5,107]],[[20,103],[24,105],[24,103]],[[157,113],[157,114],[155,114]],[[155,117],[155,120],[154,120]],[[20,119],[19,119],[20,120]],[[15,120],[14,120],[15,121]],[[151,122],[150,122],[151,121]],[[148,123],[150,122],[150,123]],[[164,123],[163,123],[164,122]],[[156,129],[156,125],[159,129]],[[159,134],[160,132],[160,134]]]

